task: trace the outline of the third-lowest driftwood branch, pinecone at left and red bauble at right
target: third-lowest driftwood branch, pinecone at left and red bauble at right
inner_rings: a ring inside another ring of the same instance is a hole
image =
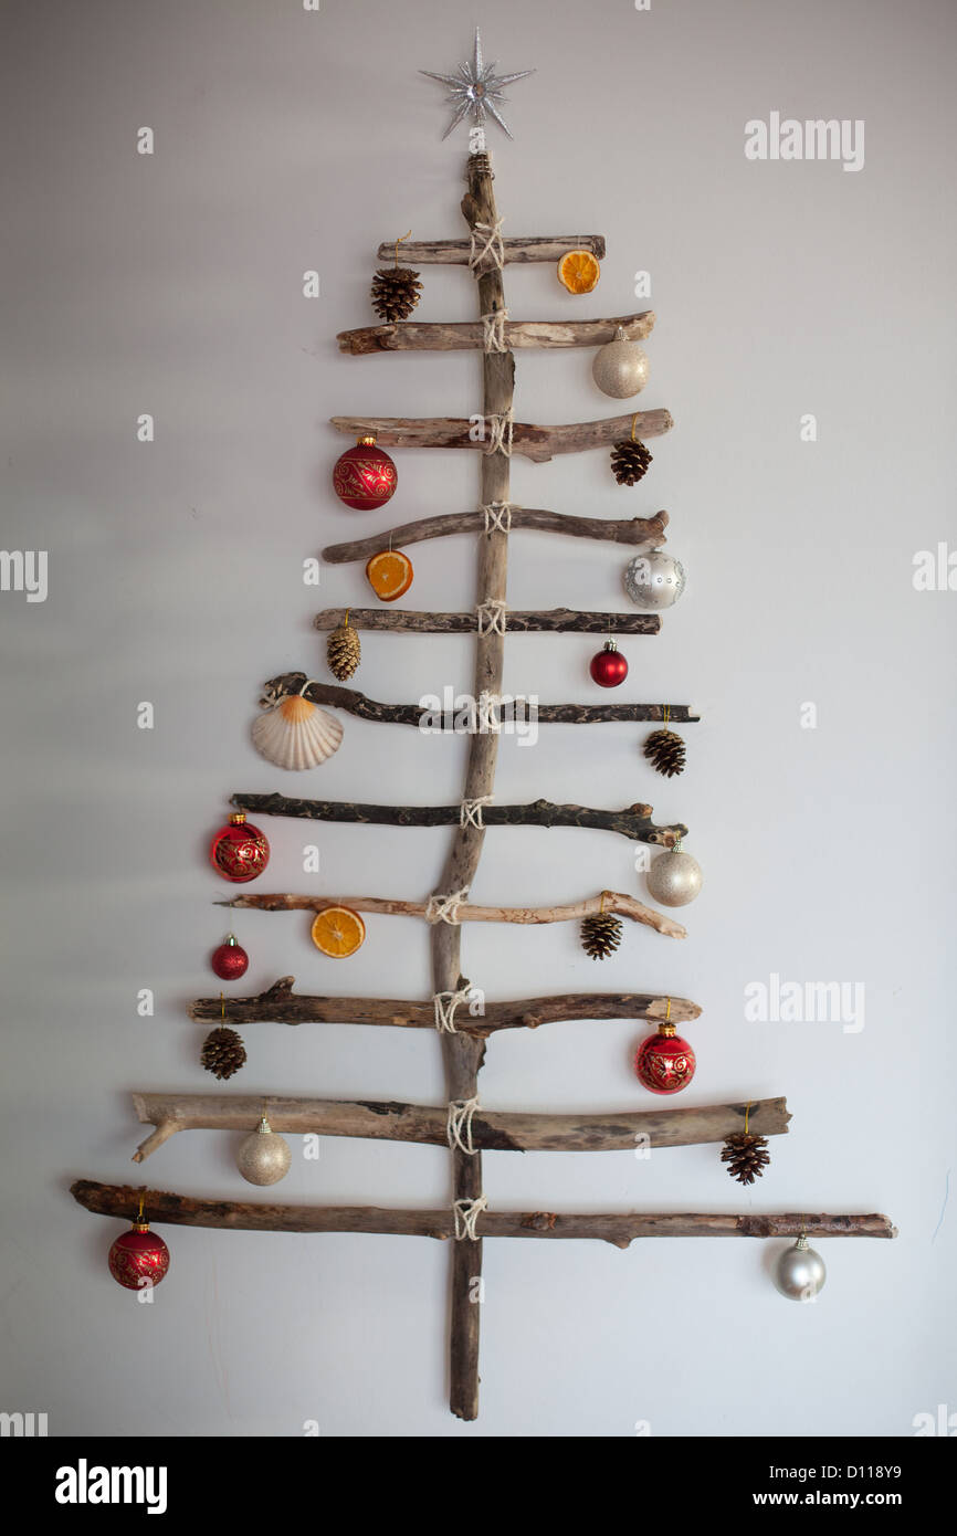
[[[470,983],[461,977],[459,991]],[[392,997],[309,997],[293,992],[295,977],[281,975],[258,997],[198,997],[186,1009],[203,1023],[229,1025],[382,1025],[398,1029],[435,1029],[435,1005]],[[498,1029],[538,1029],[539,1025],[570,1018],[645,1018],[657,1023],[688,1023],[700,1015],[697,1003],[664,992],[558,992],[551,997],[525,997],[510,1003],[481,1000],[475,1017],[465,1001],[455,1014],[455,1028],[464,1035],[495,1034]]]

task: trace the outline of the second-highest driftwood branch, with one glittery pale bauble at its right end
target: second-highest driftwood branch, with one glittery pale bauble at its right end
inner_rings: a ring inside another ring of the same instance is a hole
[[[618,319],[507,319],[504,321],[505,346],[513,347],[599,347],[614,341],[616,330],[625,332],[628,341],[644,341],[654,327],[654,312],[645,309],[641,315],[619,315]],[[396,321],[389,326],[361,326],[358,330],[341,330],[336,336],[339,352],[353,358],[372,352],[458,352],[481,350],[481,319],[461,323],[426,324],[424,321]]]

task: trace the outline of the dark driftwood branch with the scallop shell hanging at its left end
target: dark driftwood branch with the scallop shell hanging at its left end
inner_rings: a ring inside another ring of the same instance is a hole
[[[307,685],[309,684],[309,685]],[[346,710],[358,716],[359,720],[373,720],[378,725],[415,725],[422,730],[429,725],[435,710],[424,700],[422,703],[382,703],[359,693],[358,688],[343,688],[339,684],[310,682],[306,673],[280,673],[263,685],[263,705],[277,703],[289,693],[303,693],[313,703],[324,703],[329,710]],[[436,694],[438,697],[438,694]],[[607,725],[611,720],[664,720],[665,710],[671,725],[694,723],[700,720],[688,703],[538,703],[528,699],[504,697],[501,703],[502,720],[535,719],[539,725]],[[436,734],[442,736],[473,736],[484,734],[485,727],[476,723],[475,730],[458,725],[458,710],[447,710],[447,725]]]

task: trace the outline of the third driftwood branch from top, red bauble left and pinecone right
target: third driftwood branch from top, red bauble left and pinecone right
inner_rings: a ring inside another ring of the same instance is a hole
[[[469,416],[332,416],[332,425],[336,432],[347,432],[353,438],[373,433],[384,449],[473,449],[478,453],[488,449],[488,439],[473,441]],[[545,464],[556,453],[611,447],[613,442],[631,436],[633,430],[636,438],[661,438],[673,425],[671,413],[662,407],[555,427],[516,421],[512,452]]]

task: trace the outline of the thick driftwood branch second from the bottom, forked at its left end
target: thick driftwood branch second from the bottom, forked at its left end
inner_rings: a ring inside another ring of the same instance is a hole
[[[455,1035],[445,1038],[456,1041]],[[472,1051],[482,1048],[482,1041],[459,1043]],[[447,1104],[221,1092],[134,1094],[132,1100],[140,1121],[155,1126],[134,1154],[134,1163],[141,1163],[180,1130],[255,1130],[263,1114],[269,1115],[273,1130],[296,1135],[449,1144]],[[785,1135],[791,1118],[783,1098],[759,1098],[750,1106],[742,1101],[702,1109],[608,1111],[601,1115],[538,1115],[478,1107],[472,1117],[472,1143],[490,1152],[633,1152],[637,1138],[647,1135],[647,1144],[653,1147],[687,1147],[724,1141],[743,1129],[745,1114],[748,1129],[760,1137]]]

